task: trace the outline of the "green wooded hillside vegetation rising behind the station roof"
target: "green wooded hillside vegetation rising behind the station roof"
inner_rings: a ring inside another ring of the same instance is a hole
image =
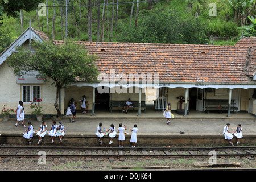
[[[137,3],[128,3],[137,2],[137,0],[119,0],[121,4],[118,5],[118,12],[117,5],[113,5],[113,2],[117,3],[117,1],[69,0],[68,38],[89,41],[89,6],[78,6],[87,5],[88,2],[93,5],[97,5],[98,2],[101,4],[101,6],[91,6],[93,42],[98,40],[103,42],[233,45],[242,35],[242,31],[237,30],[237,27],[250,24],[247,16],[255,16],[256,10],[255,0],[165,0],[138,3],[137,16]],[[42,2],[46,4],[46,0]],[[10,36],[15,39],[22,30],[26,30],[31,18],[32,27],[46,32],[51,39],[54,36],[56,40],[64,40],[65,1],[48,0],[47,2],[48,6],[51,6],[48,7],[48,27],[47,12],[45,12],[46,16],[37,18],[36,10],[28,13],[21,11],[21,13],[17,12],[16,18],[13,18],[6,16],[0,9],[3,18],[0,33],[1,31],[10,32]],[[103,6],[104,3],[109,3],[109,5]],[[44,13],[42,7],[38,7],[37,10],[39,15]],[[23,26],[20,15],[23,17]]]

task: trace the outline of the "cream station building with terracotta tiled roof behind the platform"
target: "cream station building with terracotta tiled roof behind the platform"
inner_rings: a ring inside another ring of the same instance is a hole
[[[34,40],[50,40],[43,32],[28,27],[0,55],[0,110],[3,105],[16,109],[24,102],[30,114],[30,101],[42,98],[44,114],[55,115],[56,88],[49,80],[36,78],[36,72],[18,78],[6,63],[15,47],[25,46],[35,51]],[[62,40],[52,40],[56,46]],[[90,115],[97,111],[122,110],[131,99],[138,116],[141,112],[163,110],[168,102],[172,111],[225,112],[244,111],[256,115],[256,38],[241,38],[234,46],[192,44],[150,44],[114,42],[77,42],[89,53],[98,55],[98,82],[77,81],[62,88],[59,105],[64,114],[71,98],[80,110],[86,96]],[[148,97],[152,109],[147,109]],[[117,112],[117,111],[115,111]],[[77,112],[78,113],[78,112]]]

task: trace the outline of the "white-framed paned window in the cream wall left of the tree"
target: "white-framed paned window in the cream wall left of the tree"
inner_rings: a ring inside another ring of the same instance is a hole
[[[34,98],[41,98],[41,86],[22,85],[22,101],[26,103],[33,101]]]

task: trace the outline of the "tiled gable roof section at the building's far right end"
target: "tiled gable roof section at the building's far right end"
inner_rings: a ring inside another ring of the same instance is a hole
[[[247,58],[245,63],[246,75],[254,77],[256,75],[256,37],[243,37],[235,46],[247,46]]]

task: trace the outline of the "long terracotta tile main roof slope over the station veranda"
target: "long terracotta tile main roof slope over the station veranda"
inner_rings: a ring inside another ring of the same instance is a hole
[[[63,41],[53,40],[56,45]],[[190,44],[77,42],[99,56],[100,73],[154,73],[161,82],[254,84],[244,68],[248,47]],[[120,81],[120,80],[117,80]]]

